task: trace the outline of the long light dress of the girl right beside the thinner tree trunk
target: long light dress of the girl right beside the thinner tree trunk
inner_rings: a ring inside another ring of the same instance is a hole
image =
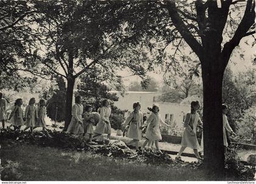
[[[68,126],[68,133],[74,133],[75,135],[79,135],[80,133],[84,133],[84,125],[82,114],[84,111],[84,106],[80,104],[74,104],[72,107],[72,119]],[[79,123],[80,122],[80,123]]]

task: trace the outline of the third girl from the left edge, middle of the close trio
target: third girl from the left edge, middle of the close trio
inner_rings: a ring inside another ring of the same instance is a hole
[[[29,100],[29,105],[27,105],[25,109],[25,118],[26,128],[24,131],[30,128],[30,133],[33,133],[33,127],[35,127],[35,122],[38,120],[37,107],[35,107],[34,97]]]

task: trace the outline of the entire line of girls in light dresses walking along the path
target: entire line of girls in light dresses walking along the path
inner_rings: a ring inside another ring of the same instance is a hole
[[[12,112],[10,113],[9,120],[12,123],[15,130],[20,130],[21,126],[26,125],[24,130],[33,130],[37,127],[43,127],[46,130],[46,102],[41,99],[39,101],[38,107],[35,106],[35,98],[32,97],[29,101],[29,105],[26,106],[23,112],[22,99],[16,99],[14,106],[12,107]],[[202,121],[197,113],[200,105],[198,101],[191,102],[191,111],[187,113],[184,122],[184,132],[182,135],[181,148],[176,156],[176,160],[181,160],[180,155],[186,147],[190,147],[194,150],[194,155],[198,160],[202,160],[199,154],[199,143],[197,141],[196,129],[197,126],[202,126]],[[148,108],[151,111],[151,115],[146,120],[146,124],[143,124],[143,113],[140,111],[140,102],[135,102],[133,104],[133,111],[127,117],[126,121],[122,124],[123,129],[127,131],[127,137],[132,140],[127,144],[135,144],[137,151],[144,151],[144,147],[148,144],[152,147],[155,144],[157,152],[161,152],[158,146],[158,141],[162,140],[162,135],[160,133],[160,126],[170,127],[168,124],[163,122],[160,118],[160,108],[158,105],[153,105],[152,108]],[[4,113],[7,110],[6,100],[2,98],[2,93],[0,93],[0,121],[2,121],[2,127],[4,127]],[[85,112],[84,112],[85,110]],[[102,107],[99,108],[98,112],[92,112],[93,107],[91,105],[82,105],[81,96],[75,97],[75,104],[72,108],[72,119],[68,126],[67,132],[77,136],[80,141],[84,140],[85,134],[89,135],[89,141],[91,142],[93,138],[99,135],[107,134],[107,140],[110,138],[111,125],[110,125],[110,114],[111,108],[110,103],[107,99],[102,101]],[[227,133],[226,130],[235,135],[232,128],[229,126],[227,121],[227,105],[222,104],[222,117],[223,117],[223,144],[226,148],[228,146]],[[93,124],[97,124],[95,130],[93,130]],[[146,141],[144,141],[141,149],[139,149],[139,141],[142,139],[143,129],[146,129]],[[203,140],[202,140],[203,141]]]

